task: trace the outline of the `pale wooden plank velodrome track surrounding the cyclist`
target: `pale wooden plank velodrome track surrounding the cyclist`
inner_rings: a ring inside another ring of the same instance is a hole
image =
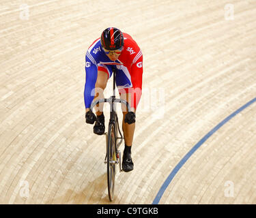
[[[134,170],[112,203],[256,203],[255,0],[1,0],[0,20],[1,204],[109,204],[83,103],[106,27],[132,35],[144,69]]]

